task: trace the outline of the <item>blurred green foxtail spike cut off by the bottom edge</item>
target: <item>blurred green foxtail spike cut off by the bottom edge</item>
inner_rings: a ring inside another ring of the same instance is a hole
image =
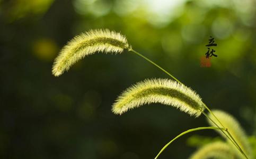
[[[223,158],[234,159],[235,154],[231,147],[224,142],[213,142],[202,146],[189,159],[209,159],[209,158]]]

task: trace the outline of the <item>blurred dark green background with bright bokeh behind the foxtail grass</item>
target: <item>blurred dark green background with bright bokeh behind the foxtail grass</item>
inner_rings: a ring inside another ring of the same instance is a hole
[[[153,158],[179,133],[208,125],[203,116],[158,104],[111,113],[130,85],[169,78],[127,51],[97,53],[52,76],[52,62],[67,41],[101,28],[126,35],[135,50],[196,90],[210,108],[228,111],[248,136],[256,135],[255,4],[0,0],[0,158]],[[211,57],[211,67],[200,67],[209,36],[218,57]],[[187,158],[204,136],[218,134],[184,136],[160,158]]]

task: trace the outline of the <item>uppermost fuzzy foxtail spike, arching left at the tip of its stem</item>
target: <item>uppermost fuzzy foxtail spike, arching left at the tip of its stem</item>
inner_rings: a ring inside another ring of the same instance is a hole
[[[105,30],[90,30],[70,40],[60,51],[52,67],[52,74],[60,76],[78,60],[96,52],[121,53],[131,48],[125,36]]]

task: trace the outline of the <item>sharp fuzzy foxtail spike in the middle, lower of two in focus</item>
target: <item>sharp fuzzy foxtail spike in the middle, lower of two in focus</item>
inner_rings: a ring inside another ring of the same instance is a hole
[[[204,105],[197,93],[169,79],[147,79],[125,90],[112,106],[114,114],[123,114],[129,109],[144,104],[161,103],[179,108],[198,117]]]

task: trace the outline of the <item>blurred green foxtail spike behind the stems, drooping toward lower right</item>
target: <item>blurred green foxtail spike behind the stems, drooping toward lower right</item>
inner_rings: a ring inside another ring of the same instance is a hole
[[[221,110],[213,110],[213,113],[215,116],[222,122],[225,128],[227,128],[228,132],[232,135],[234,141],[242,148],[243,152],[248,156],[248,158],[252,157],[251,147],[248,143],[248,139],[246,137],[246,134],[244,133],[243,128],[240,126],[238,121],[231,115],[225,113]],[[212,115],[209,114],[209,117],[213,119]],[[215,123],[218,123],[217,120],[214,120]],[[208,123],[210,125],[214,125],[212,121],[208,120]],[[218,131],[219,132],[219,131]],[[220,133],[220,132],[219,132]],[[223,133],[220,133],[220,135],[224,136]],[[229,141],[230,143],[230,141]],[[231,144],[231,143],[230,143]],[[236,149],[236,147],[232,145],[233,151],[240,156],[240,158],[244,158],[242,154]]]

